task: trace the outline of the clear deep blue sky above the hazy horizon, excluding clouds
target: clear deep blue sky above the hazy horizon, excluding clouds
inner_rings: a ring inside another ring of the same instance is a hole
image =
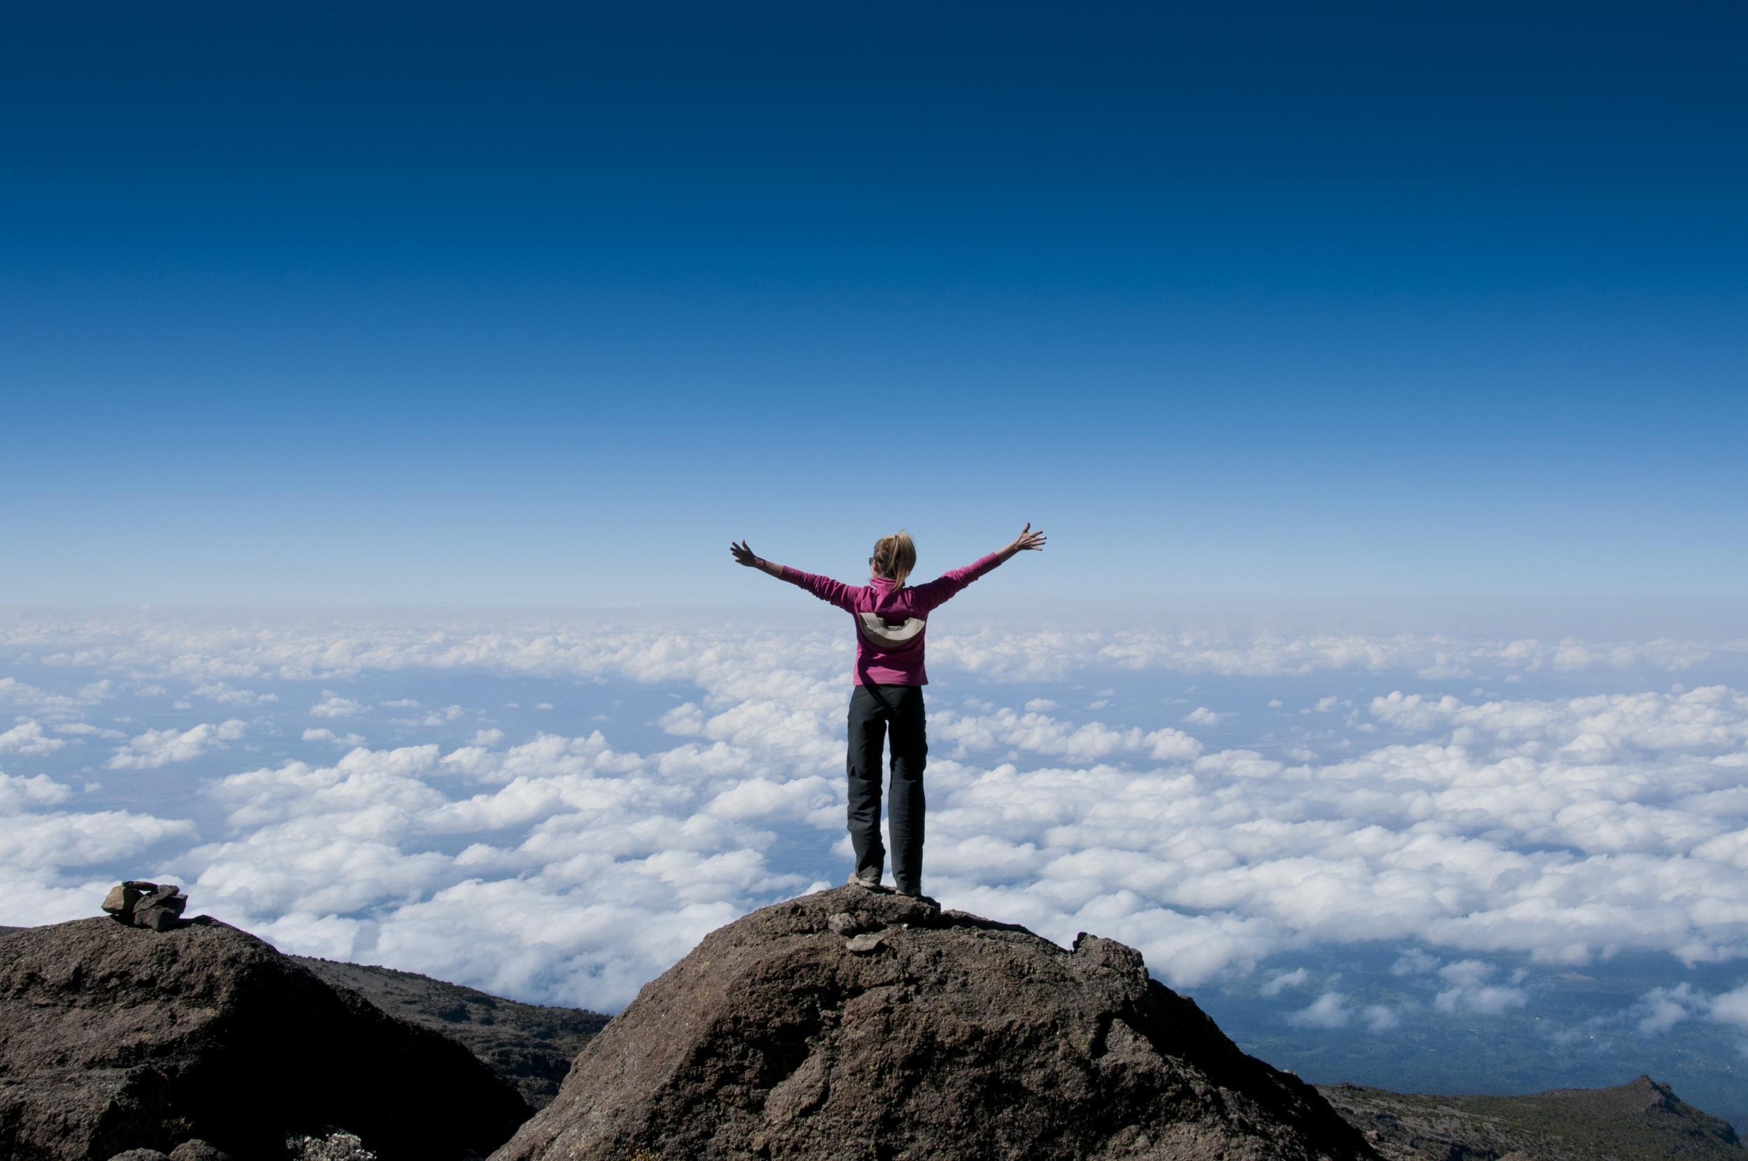
[[[1741,593],[1736,5],[3,23],[0,603]]]

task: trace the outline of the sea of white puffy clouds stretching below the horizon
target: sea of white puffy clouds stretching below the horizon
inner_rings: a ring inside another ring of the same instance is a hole
[[[947,906],[1302,1030],[1533,1011],[1536,967],[1652,956],[1619,1021],[1748,1033],[1748,642],[965,621],[928,649]],[[287,951],[617,1011],[848,874],[850,654],[834,614],[10,614],[0,923],[159,878]],[[1344,946],[1418,990],[1308,967]]]

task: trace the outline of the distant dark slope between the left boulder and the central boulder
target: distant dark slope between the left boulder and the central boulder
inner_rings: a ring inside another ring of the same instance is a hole
[[[351,988],[390,1016],[460,1040],[535,1109],[552,1103],[570,1061],[608,1021],[600,1012],[521,1004],[392,967],[290,958],[329,984]]]

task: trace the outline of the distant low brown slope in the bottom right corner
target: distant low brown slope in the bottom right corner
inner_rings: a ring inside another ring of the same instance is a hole
[[[1390,1161],[1748,1161],[1727,1121],[1650,1077],[1530,1096],[1423,1096],[1358,1084],[1318,1091]]]

